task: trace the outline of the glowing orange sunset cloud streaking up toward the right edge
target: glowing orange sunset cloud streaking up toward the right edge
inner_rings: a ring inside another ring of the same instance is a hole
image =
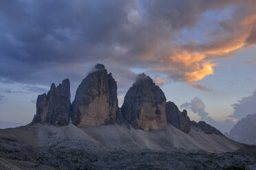
[[[255,14],[246,15],[240,21],[231,19],[226,22],[223,24],[224,31],[220,31],[220,36],[212,37],[209,42],[193,41],[185,44],[159,45],[156,49],[151,48],[150,51],[153,53],[147,53],[141,57],[141,60],[155,64],[152,66],[154,71],[169,75],[173,80],[186,82],[201,90],[212,91],[211,88],[195,83],[203,80],[207,75],[214,75],[214,68],[217,63],[212,61],[215,58],[232,57],[233,52],[247,48],[255,42]],[[248,39],[248,37],[253,37],[253,39]],[[253,60],[242,62],[252,63]],[[155,80],[157,84],[167,81],[167,79]]]

